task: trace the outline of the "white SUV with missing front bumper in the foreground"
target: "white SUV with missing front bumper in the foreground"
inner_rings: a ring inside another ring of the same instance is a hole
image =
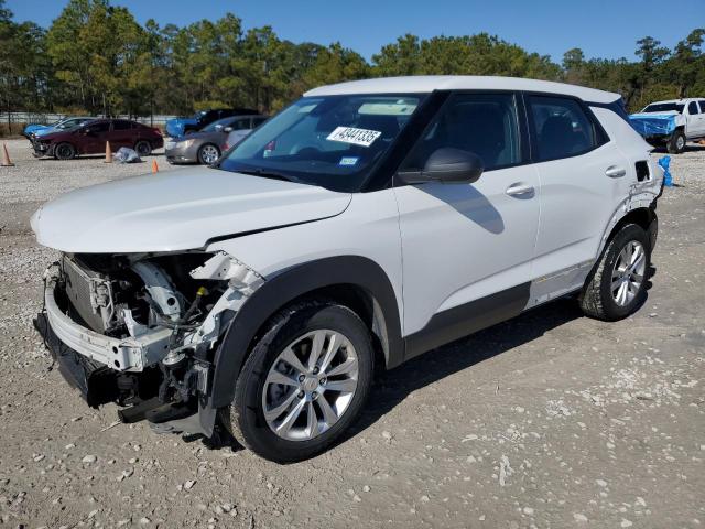
[[[577,294],[646,299],[663,174],[620,97],[502,77],[311,90],[213,169],[74,191],[36,326],[90,406],[310,457],[392,368]],[[468,352],[467,354],[471,354]]]

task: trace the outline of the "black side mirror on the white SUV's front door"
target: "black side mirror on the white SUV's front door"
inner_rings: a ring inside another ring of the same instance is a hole
[[[399,176],[408,184],[471,184],[477,182],[484,170],[482,160],[477,154],[444,147],[429,156],[422,171],[399,173]]]

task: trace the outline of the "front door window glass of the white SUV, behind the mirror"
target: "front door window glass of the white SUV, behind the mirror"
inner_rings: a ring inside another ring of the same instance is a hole
[[[421,171],[437,149],[477,154],[485,171],[521,161],[517,104],[511,94],[458,94],[448,99],[402,164]]]

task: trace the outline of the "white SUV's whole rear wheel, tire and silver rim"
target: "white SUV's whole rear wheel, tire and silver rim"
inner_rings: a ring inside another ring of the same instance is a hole
[[[639,309],[647,298],[651,266],[649,235],[628,224],[609,241],[581,294],[581,307],[588,316],[617,321]]]

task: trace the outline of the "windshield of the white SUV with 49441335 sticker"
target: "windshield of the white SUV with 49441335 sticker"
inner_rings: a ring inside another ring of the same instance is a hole
[[[424,97],[305,97],[234,148],[218,169],[358,191]]]

